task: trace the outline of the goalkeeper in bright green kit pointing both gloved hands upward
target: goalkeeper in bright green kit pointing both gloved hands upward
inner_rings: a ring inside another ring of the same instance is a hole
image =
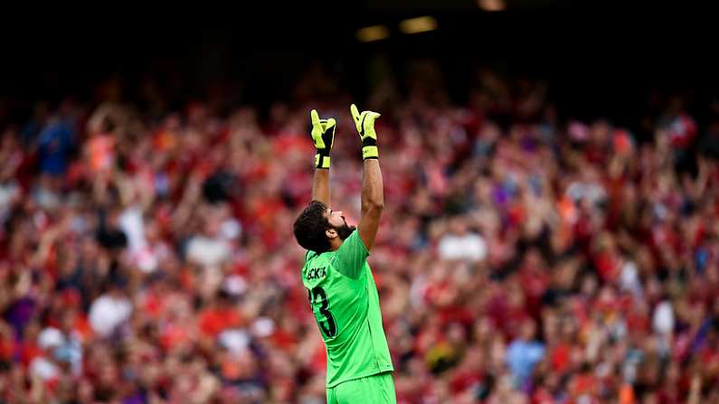
[[[367,256],[374,244],[384,207],[377,134],[380,114],[350,107],[362,140],[364,174],[358,227],[342,211],[329,208],[330,151],[335,140],[334,118],[310,112],[312,139],[317,148],[312,202],[294,223],[295,238],[307,249],[302,283],[327,352],[328,404],[396,403],[394,370],[384,336],[380,300]]]

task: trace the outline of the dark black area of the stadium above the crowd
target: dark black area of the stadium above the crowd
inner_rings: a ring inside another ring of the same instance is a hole
[[[397,74],[408,60],[440,61],[459,102],[469,72],[483,65],[549,80],[551,98],[572,116],[612,117],[631,127],[628,111],[642,108],[650,91],[691,93],[701,103],[719,87],[715,13],[700,2],[505,3],[499,13],[470,0],[8,11],[0,27],[0,95],[27,113],[37,99],[88,99],[101,80],[132,83],[149,75],[174,88],[178,102],[231,83],[237,103],[262,107],[288,94],[319,62],[361,98],[368,61],[379,55]],[[439,30],[407,35],[397,29],[403,19],[422,15],[436,18]],[[374,24],[384,24],[391,36],[355,39],[358,29]]]

